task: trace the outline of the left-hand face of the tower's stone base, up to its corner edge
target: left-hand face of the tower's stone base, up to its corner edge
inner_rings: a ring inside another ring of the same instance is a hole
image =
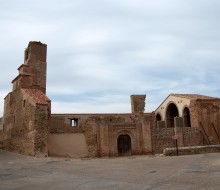
[[[34,114],[35,106],[26,102],[20,90],[13,91],[5,98],[4,149],[22,154],[34,155]]]

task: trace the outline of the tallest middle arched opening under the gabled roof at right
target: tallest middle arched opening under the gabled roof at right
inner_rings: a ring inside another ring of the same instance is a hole
[[[178,109],[174,103],[169,104],[166,112],[167,127],[174,127],[174,118],[179,116]]]

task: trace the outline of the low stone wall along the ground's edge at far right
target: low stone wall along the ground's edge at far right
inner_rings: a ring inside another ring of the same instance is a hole
[[[220,145],[209,145],[209,146],[191,146],[191,147],[179,147],[178,155],[191,155],[191,154],[205,154],[220,152]],[[163,150],[165,156],[176,156],[176,148],[165,148]]]

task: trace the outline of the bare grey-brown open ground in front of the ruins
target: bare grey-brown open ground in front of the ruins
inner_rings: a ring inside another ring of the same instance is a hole
[[[220,153],[34,158],[0,150],[0,190],[219,190]]]

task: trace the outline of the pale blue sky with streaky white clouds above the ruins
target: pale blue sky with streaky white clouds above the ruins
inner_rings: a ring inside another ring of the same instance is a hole
[[[48,45],[53,113],[146,111],[170,93],[220,97],[219,0],[1,0],[0,116],[29,41]]]

